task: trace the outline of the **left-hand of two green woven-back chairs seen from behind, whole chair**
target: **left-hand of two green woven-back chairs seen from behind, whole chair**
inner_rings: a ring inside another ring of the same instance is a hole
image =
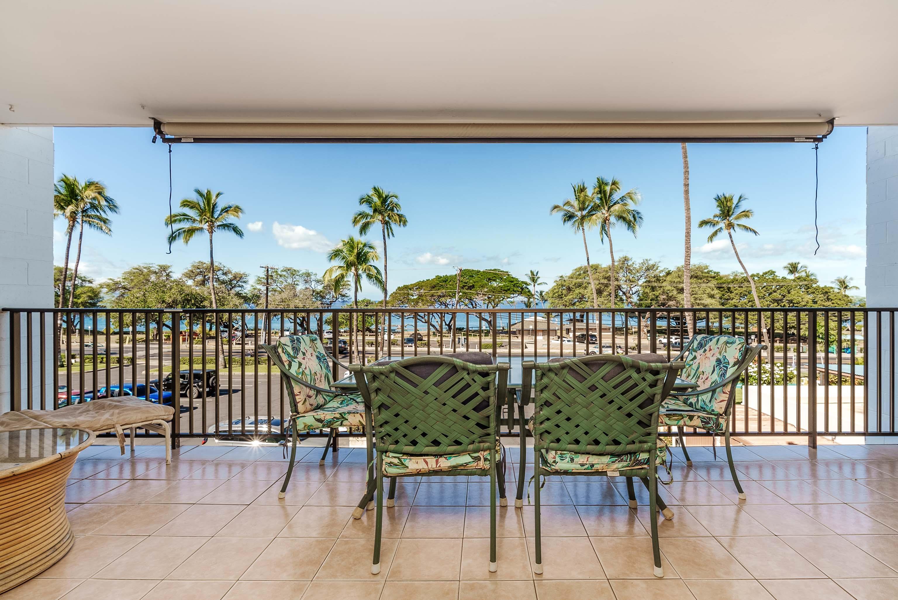
[[[497,488],[505,498],[505,474],[497,468],[498,412],[509,365],[493,365],[489,355],[482,356],[488,364],[432,355],[349,366],[365,401],[368,461],[374,460],[376,473],[374,575],[381,570],[384,477],[390,480],[390,499],[401,477],[489,477],[489,571],[497,570]]]

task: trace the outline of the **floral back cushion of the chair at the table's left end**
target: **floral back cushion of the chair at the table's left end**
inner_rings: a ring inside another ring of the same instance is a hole
[[[277,354],[290,373],[300,379],[318,387],[329,388],[333,384],[328,355],[317,335],[288,335],[280,338],[277,340]],[[302,414],[321,409],[333,398],[330,394],[316,392],[300,384],[293,384],[293,393],[296,410]]]

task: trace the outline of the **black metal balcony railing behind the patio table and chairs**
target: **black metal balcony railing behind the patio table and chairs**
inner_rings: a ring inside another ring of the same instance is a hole
[[[343,362],[489,352],[497,360],[679,354],[690,331],[769,343],[743,375],[735,436],[896,432],[894,308],[4,309],[13,410],[130,393],[180,407],[175,437],[284,436],[277,369],[259,344],[316,333]],[[179,368],[180,367],[180,368]],[[344,369],[334,364],[335,372]],[[172,371],[183,371],[166,377]],[[4,375],[6,376],[6,375]],[[183,383],[181,383],[181,381]],[[178,382],[175,384],[175,382]],[[699,434],[700,432],[691,432]]]

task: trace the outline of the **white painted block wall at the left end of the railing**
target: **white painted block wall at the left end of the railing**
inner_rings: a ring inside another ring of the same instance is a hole
[[[52,305],[53,128],[0,125],[0,308]],[[40,393],[39,326],[36,320],[32,322],[31,357],[22,340],[22,367],[28,360],[36,367],[31,385],[34,394]],[[46,327],[46,349],[52,357],[52,324],[48,322]],[[9,331],[9,315],[0,313],[0,412],[11,409]],[[25,331],[22,320],[23,336]],[[48,369],[46,373],[51,386],[52,372]],[[23,398],[25,385],[23,375]]]

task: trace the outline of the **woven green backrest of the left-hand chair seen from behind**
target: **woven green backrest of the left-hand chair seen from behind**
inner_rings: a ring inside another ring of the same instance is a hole
[[[416,368],[427,365],[432,368]],[[378,452],[458,454],[495,448],[497,372],[506,377],[507,365],[428,356],[349,368],[371,406]]]

